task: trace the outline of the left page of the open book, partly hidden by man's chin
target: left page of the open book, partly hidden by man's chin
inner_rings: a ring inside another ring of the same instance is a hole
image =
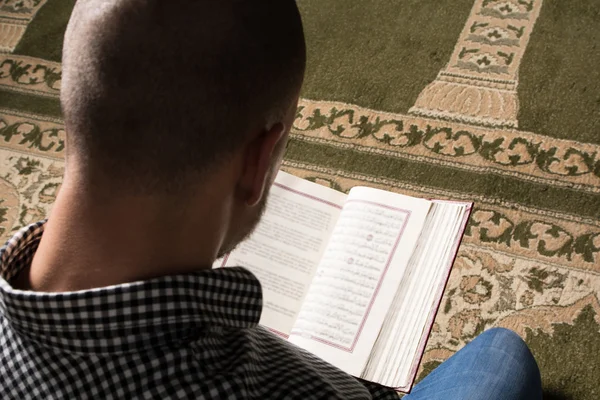
[[[260,324],[287,337],[346,195],[279,172],[250,238],[216,267],[242,266],[261,283]]]

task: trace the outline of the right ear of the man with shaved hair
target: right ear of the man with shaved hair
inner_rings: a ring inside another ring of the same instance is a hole
[[[242,176],[239,184],[244,193],[244,202],[253,207],[263,198],[268,186],[271,168],[280,156],[278,150],[285,140],[285,127],[276,123],[271,129],[264,131],[247,146]]]

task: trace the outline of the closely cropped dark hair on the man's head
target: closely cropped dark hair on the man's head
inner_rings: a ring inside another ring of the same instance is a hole
[[[170,192],[281,121],[304,76],[294,0],[78,0],[65,34],[67,155]]]

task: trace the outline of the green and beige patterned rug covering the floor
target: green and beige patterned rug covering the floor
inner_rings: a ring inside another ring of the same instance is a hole
[[[0,0],[0,238],[61,183],[74,0]],[[299,0],[309,60],[284,169],[476,208],[420,376],[484,329],[532,348],[546,398],[600,396],[597,0]]]

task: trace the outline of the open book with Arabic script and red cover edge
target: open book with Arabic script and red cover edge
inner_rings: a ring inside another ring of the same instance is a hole
[[[279,172],[254,233],[215,266],[257,276],[263,326],[409,392],[471,207]]]

